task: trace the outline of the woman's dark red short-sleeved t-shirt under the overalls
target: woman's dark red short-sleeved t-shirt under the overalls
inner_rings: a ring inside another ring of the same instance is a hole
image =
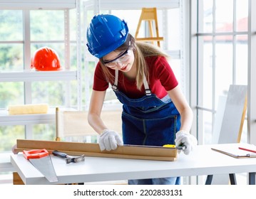
[[[149,82],[151,93],[155,94],[158,98],[163,98],[167,95],[168,90],[172,90],[178,85],[173,70],[170,68],[168,61],[164,57],[154,56],[145,58],[148,64]],[[113,75],[115,70],[108,68]],[[113,85],[113,82],[110,82]],[[104,91],[108,88],[108,82],[106,81],[100,63],[97,64],[94,73],[93,90]],[[145,95],[144,86],[141,90],[138,90],[135,84],[135,80],[128,80],[123,72],[118,72],[118,90],[123,92],[130,99],[138,99]]]

